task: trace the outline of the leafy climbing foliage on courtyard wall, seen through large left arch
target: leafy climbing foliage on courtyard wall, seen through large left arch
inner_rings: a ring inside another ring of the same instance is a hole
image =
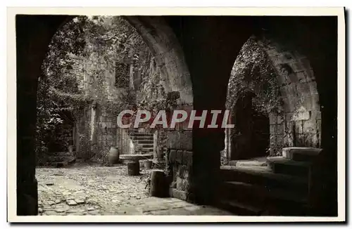
[[[142,38],[120,17],[79,16],[56,32],[42,65],[43,74],[39,77],[38,157],[47,152],[47,138],[56,127],[63,122],[77,122],[84,115],[82,111],[87,105],[97,103],[106,110],[118,113],[135,103],[134,92],[129,89],[122,90],[118,100],[108,98],[106,69],[100,67],[87,72],[84,60],[92,58],[94,53],[96,60],[105,65],[111,64],[111,60],[125,59],[138,63],[143,51],[147,52],[148,48]],[[84,74],[89,74],[91,79],[89,90],[82,88],[82,79],[78,77]]]

